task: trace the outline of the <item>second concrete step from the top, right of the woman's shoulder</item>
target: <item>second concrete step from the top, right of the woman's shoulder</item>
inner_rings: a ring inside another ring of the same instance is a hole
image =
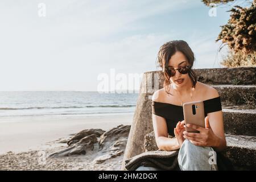
[[[256,85],[210,85],[218,90],[225,105],[248,105],[255,109]]]

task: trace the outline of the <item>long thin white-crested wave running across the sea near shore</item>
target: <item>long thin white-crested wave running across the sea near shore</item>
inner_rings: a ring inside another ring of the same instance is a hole
[[[69,108],[86,108],[86,107],[135,107],[135,106],[136,105],[60,106],[60,107],[23,107],[23,108],[0,107],[0,110],[69,109]]]

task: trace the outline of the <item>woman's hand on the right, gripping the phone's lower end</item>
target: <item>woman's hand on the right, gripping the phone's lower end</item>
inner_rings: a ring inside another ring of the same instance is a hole
[[[195,144],[196,146],[216,146],[216,143],[218,142],[218,137],[213,133],[210,127],[209,116],[205,117],[205,128],[193,124],[187,124],[186,127],[191,127],[192,129],[200,131],[200,133],[191,133],[187,131],[183,132],[183,137],[185,139],[189,139],[191,143]]]

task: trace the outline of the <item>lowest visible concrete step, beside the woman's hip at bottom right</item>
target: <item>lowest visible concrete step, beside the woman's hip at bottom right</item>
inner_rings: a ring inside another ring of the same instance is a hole
[[[256,137],[226,135],[227,148],[221,153],[237,170],[256,170]]]

